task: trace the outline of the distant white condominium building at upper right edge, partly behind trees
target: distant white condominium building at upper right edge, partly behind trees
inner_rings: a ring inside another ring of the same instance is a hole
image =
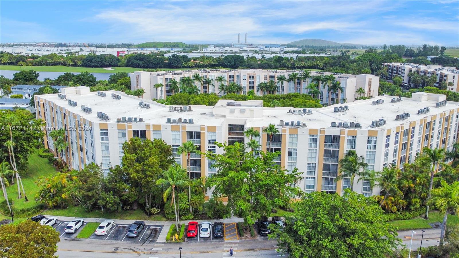
[[[441,65],[420,65],[412,63],[383,63],[383,66],[387,67],[387,76],[385,79],[392,79],[394,76],[401,76],[403,83],[411,85],[409,73],[418,73],[420,75],[426,75],[431,77],[437,75],[437,82],[434,84],[435,87],[439,87],[440,83],[445,81],[447,83],[452,82],[453,85],[448,85],[448,90],[459,91],[459,70],[456,67],[443,67]],[[422,83],[420,86],[426,86]]]

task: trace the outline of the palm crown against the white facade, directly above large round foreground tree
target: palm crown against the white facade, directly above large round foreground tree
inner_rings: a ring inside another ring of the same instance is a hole
[[[351,191],[353,191],[355,177],[363,177],[365,168],[368,166],[364,156],[358,156],[357,152],[349,150],[338,163],[340,164],[340,174],[335,178],[335,182],[349,177],[351,178]]]

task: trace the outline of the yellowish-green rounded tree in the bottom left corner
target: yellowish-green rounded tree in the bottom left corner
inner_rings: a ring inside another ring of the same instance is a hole
[[[0,230],[0,256],[4,258],[57,258],[59,233],[30,219],[6,224]]]

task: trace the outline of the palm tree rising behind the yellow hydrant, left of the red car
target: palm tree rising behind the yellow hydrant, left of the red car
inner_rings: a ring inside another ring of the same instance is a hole
[[[190,189],[190,179],[186,178],[186,170],[179,164],[174,163],[168,170],[162,171],[162,178],[156,181],[156,185],[162,185],[162,187],[165,188],[162,193],[164,202],[166,202],[168,197],[172,194],[171,206],[174,204],[175,226],[177,232],[179,232],[179,214],[177,213],[177,203],[175,202],[175,190],[179,187],[186,186]]]

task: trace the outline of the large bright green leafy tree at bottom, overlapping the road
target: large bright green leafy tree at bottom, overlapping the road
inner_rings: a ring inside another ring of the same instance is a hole
[[[281,253],[302,258],[374,258],[401,244],[378,205],[353,191],[313,192],[295,205],[284,230],[274,229]]]

